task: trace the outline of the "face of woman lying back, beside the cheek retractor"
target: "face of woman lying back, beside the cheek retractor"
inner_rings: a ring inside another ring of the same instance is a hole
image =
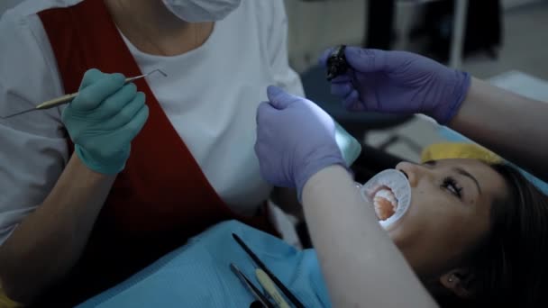
[[[424,165],[400,163],[411,186],[406,215],[388,229],[422,278],[443,275],[489,231],[491,204],[505,195],[504,178],[476,159]]]

